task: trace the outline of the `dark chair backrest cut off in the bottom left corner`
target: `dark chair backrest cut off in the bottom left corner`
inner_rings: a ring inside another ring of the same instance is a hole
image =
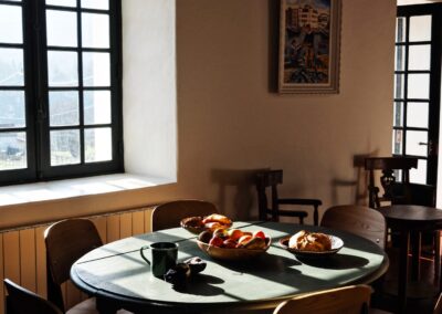
[[[62,314],[55,305],[40,295],[18,285],[9,279],[3,281],[7,287],[8,314]]]

